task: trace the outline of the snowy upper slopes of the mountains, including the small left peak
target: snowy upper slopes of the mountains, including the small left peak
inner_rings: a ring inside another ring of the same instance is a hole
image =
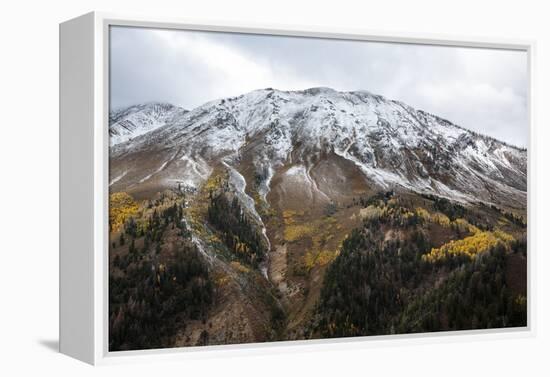
[[[277,175],[306,182],[312,196],[327,201],[334,195],[331,185],[321,187],[326,177],[361,175],[380,189],[526,203],[526,150],[366,91],[262,89],[189,112],[139,105],[111,121],[114,189],[176,182],[196,188],[225,164],[246,170],[264,199]],[[329,160],[339,161],[339,170],[320,174]]]

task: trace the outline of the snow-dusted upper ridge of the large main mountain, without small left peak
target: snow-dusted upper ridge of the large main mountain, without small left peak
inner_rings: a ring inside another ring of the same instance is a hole
[[[264,198],[277,169],[297,161],[311,165],[327,152],[353,162],[385,189],[404,187],[463,202],[502,203],[511,197],[518,206],[526,195],[526,150],[368,91],[258,89],[178,113],[116,143],[111,153],[117,159],[181,149],[181,155],[165,155],[156,169],[183,159],[187,164],[177,164],[172,182],[198,187],[204,174],[184,170],[200,165],[205,173],[213,161],[237,161],[251,141],[261,144],[251,158],[263,177]]]

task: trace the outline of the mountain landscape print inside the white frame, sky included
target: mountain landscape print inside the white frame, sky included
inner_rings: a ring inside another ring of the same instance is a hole
[[[527,325],[525,51],[112,26],[109,350]]]

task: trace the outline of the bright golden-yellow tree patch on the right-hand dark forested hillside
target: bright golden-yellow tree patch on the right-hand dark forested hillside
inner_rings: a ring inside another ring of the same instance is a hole
[[[424,254],[422,259],[427,262],[436,262],[449,256],[466,255],[473,259],[476,255],[488,251],[499,242],[509,243],[514,240],[511,235],[496,230],[494,232],[477,232],[472,236],[460,240],[452,240],[439,248],[433,248],[429,253]]]

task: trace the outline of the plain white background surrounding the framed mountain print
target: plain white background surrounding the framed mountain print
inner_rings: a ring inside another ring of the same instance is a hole
[[[536,376],[550,363],[546,250],[550,27],[544,1],[4,1],[0,5],[0,374]],[[53,351],[58,333],[58,23],[91,10],[208,20],[536,39],[537,336],[397,343],[93,369]]]

